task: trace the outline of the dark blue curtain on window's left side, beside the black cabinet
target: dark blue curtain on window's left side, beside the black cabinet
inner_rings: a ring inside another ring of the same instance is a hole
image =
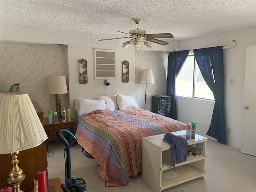
[[[176,113],[176,93],[175,82],[186,58],[188,57],[189,50],[170,52],[168,56],[168,68],[167,68],[167,95],[172,95],[171,110],[168,113],[168,117],[177,120]]]

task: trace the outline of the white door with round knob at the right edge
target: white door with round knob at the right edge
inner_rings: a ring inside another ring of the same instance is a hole
[[[256,45],[247,46],[241,152],[256,156]]]

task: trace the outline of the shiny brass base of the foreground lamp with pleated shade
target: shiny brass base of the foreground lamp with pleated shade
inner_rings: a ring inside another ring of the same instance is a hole
[[[13,186],[14,192],[23,192],[22,190],[20,190],[20,183],[25,179],[26,176],[25,174],[22,174],[23,171],[18,166],[18,153],[18,151],[11,153],[12,170],[9,172],[9,178],[7,179],[7,182]]]

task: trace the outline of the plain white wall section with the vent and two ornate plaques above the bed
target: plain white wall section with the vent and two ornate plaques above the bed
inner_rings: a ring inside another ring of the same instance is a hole
[[[107,49],[107,48],[101,48]],[[136,96],[135,89],[135,50],[116,50],[116,74],[117,79],[108,79],[110,86],[104,84],[104,79],[94,79],[94,48],[85,46],[68,46],[68,72],[69,72],[69,95],[70,110],[74,118],[74,99],[87,98],[97,99],[97,96],[104,96],[118,92],[120,94]],[[78,60],[87,60],[88,82],[80,84],[78,81]],[[122,62],[127,60],[130,63],[130,81],[122,82]],[[137,100],[137,97],[136,97]]]

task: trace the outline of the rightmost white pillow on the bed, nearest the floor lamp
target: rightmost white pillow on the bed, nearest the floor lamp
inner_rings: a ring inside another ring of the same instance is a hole
[[[139,108],[134,97],[117,94],[117,104],[120,110],[129,108]]]

